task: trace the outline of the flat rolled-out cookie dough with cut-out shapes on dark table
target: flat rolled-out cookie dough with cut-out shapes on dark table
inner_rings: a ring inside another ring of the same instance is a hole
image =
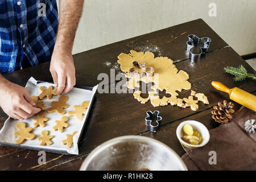
[[[129,69],[133,67],[133,61],[138,61],[139,64],[146,63],[147,67],[154,68],[154,76],[152,77],[141,77],[129,75]],[[177,105],[180,107],[186,107],[183,103],[184,99],[177,98],[179,95],[176,91],[181,92],[181,90],[191,89],[191,83],[188,81],[189,76],[186,72],[175,67],[174,61],[168,57],[155,57],[152,52],[137,52],[131,50],[130,53],[121,53],[118,56],[117,63],[120,64],[121,71],[126,72],[126,77],[130,78],[127,81],[127,88],[135,89],[139,87],[139,81],[143,81],[146,84],[154,82],[151,86],[153,91],[148,92],[148,98],[141,97],[141,91],[136,90],[134,92],[134,98],[137,99],[142,104],[150,100],[154,107],[165,106],[170,103],[171,105]],[[161,91],[166,90],[166,94],[171,94],[171,97],[159,98],[156,90]],[[188,106],[188,105],[187,105]],[[195,106],[195,105],[193,105]],[[195,107],[191,107],[191,109]],[[197,108],[198,109],[198,108]]]

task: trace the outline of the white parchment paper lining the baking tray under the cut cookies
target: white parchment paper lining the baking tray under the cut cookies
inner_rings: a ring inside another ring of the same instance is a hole
[[[26,89],[30,93],[30,96],[39,96],[41,91],[39,90],[40,86],[54,86],[54,84],[49,84],[48,82],[42,82],[39,84],[36,84],[36,80],[31,77],[30,80],[28,80],[26,84]],[[56,112],[54,113],[47,113],[46,110],[43,110],[46,113],[46,117],[49,118],[47,122],[45,122],[45,127],[34,127],[34,121],[32,121],[33,118],[38,117],[37,114],[35,114],[33,117],[29,119],[24,119],[22,122],[26,122],[26,127],[32,127],[33,131],[31,133],[36,135],[36,138],[34,140],[25,140],[22,144],[15,144],[15,140],[18,138],[14,137],[14,133],[16,130],[16,123],[20,121],[16,121],[12,118],[8,118],[5,121],[5,124],[3,125],[2,129],[0,130],[0,143],[1,144],[13,144],[14,146],[18,147],[24,147],[24,148],[34,148],[37,150],[55,150],[59,152],[68,152],[68,154],[79,154],[78,149],[78,140],[80,137],[80,134],[82,132],[82,129],[84,129],[84,125],[86,122],[86,119],[89,114],[90,106],[92,105],[94,94],[96,93],[97,86],[93,87],[93,90],[85,90],[85,89],[79,89],[79,88],[73,88],[68,94],[65,94],[68,96],[68,101],[66,102],[69,107],[67,109],[64,109],[66,113],[65,116],[68,117],[68,127],[64,128],[63,133],[60,133],[59,131],[54,131],[52,129],[53,126],[56,125],[55,121],[60,121],[61,117],[64,115],[59,115]],[[42,100],[44,102],[44,105],[49,108],[51,107],[52,101],[58,101],[59,96],[53,96],[51,100],[48,100],[47,98],[44,98]],[[75,116],[69,117],[67,115],[68,110],[74,110],[74,105],[81,105],[84,101],[90,101],[88,109],[86,111],[86,114],[84,115],[84,119],[82,121],[79,121],[76,119]],[[53,144],[50,146],[40,146],[41,141],[39,141],[37,138],[41,137],[41,132],[43,130],[49,131],[49,135],[53,135],[54,137],[51,139]],[[74,131],[77,131],[77,133],[73,137],[73,145],[71,148],[68,148],[67,145],[63,145],[61,143],[62,140],[66,139],[65,135],[69,134],[72,135]]]

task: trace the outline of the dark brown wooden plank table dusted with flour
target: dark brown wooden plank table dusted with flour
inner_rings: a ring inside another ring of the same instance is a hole
[[[185,42],[189,34],[199,37],[208,36],[212,39],[209,52],[198,61],[188,59],[188,51],[185,51]],[[230,32],[232,34],[232,32]],[[242,64],[249,72],[254,70],[210,28],[202,19],[179,24],[163,30],[123,40],[89,51],[74,55],[76,65],[77,85],[94,86],[101,81],[97,80],[99,73],[110,75],[110,68],[117,67],[119,53],[135,51],[151,51],[155,56],[167,56],[174,60],[178,69],[189,74],[189,82],[196,92],[204,93],[210,102],[209,105],[199,104],[199,110],[192,111],[177,106],[153,107],[150,102],[139,104],[133,94],[96,94],[88,122],[82,133],[79,143],[79,155],[59,155],[47,152],[46,164],[38,164],[38,151],[25,150],[0,146],[1,170],[78,170],[90,151],[106,140],[122,135],[143,135],[155,138],[170,146],[178,155],[185,152],[176,137],[176,127],[180,122],[194,119],[203,123],[207,128],[213,129],[213,106],[222,100],[229,100],[228,94],[218,92],[211,85],[212,80],[221,81],[230,88],[239,87],[247,92],[255,94],[256,84],[253,80],[233,82],[232,76],[225,73],[223,68],[230,65],[237,67]],[[37,80],[52,81],[49,73],[49,63],[23,69],[4,75],[8,80],[19,85],[33,76]],[[163,93],[161,93],[163,96]],[[183,90],[180,98],[188,97],[190,90]],[[236,104],[236,110],[240,105]],[[152,133],[144,125],[147,110],[160,111],[163,117],[162,126],[157,133]],[[0,114],[0,127],[6,119],[6,115]]]

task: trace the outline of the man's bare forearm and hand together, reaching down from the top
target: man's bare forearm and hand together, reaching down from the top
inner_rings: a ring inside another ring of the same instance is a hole
[[[59,25],[50,66],[57,95],[68,93],[76,85],[72,48],[83,5],[84,0],[59,1]]]

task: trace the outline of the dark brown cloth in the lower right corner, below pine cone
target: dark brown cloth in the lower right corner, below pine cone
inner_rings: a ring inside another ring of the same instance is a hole
[[[245,131],[248,119],[256,119],[256,113],[241,107],[231,122],[209,131],[210,140],[204,147],[183,146],[187,153],[181,159],[187,168],[191,171],[256,170],[256,133]],[[210,151],[216,151],[217,164],[209,164]]]

